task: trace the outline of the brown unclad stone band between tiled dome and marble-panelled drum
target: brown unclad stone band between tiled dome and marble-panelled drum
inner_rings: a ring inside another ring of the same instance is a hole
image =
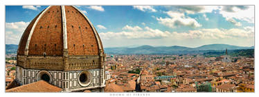
[[[102,56],[103,57],[103,56]],[[87,70],[103,68],[103,58],[98,55],[69,56],[69,70]],[[64,70],[64,57],[62,56],[17,56],[17,65],[26,69]]]

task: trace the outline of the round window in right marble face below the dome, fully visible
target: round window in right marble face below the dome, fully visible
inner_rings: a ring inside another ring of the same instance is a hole
[[[91,83],[91,73],[88,71],[83,71],[78,75],[78,83],[82,87],[87,87]]]

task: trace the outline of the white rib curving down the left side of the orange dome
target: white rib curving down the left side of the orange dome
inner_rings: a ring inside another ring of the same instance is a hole
[[[51,8],[51,6],[48,6],[48,8]],[[42,17],[42,15],[48,10],[48,8],[46,8],[46,10],[44,10],[44,11],[39,15],[39,17],[37,17],[35,23],[33,24],[33,28],[31,28],[31,30],[30,30],[30,33],[29,33],[29,36],[28,36],[28,39],[27,39],[27,42],[26,42],[26,47],[25,47],[25,52],[24,52],[25,55],[28,55],[28,49],[29,49],[29,45],[30,45],[30,39],[31,39],[31,36],[33,35],[34,29],[35,29],[37,23],[39,22],[39,19],[40,19],[40,18]]]

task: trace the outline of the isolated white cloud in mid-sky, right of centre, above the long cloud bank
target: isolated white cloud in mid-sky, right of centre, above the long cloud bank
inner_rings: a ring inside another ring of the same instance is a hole
[[[184,13],[180,12],[166,12],[171,18],[157,18],[157,21],[159,23],[166,25],[170,28],[176,28],[179,26],[188,26],[191,28],[198,28],[202,27],[202,24],[199,24],[195,19],[192,19],[190,17],[186,17]]]

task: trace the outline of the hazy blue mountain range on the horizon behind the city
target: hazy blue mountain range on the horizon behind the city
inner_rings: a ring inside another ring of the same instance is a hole
[[[252,47],[240,47],[226,44],[202,45],[200,47],[183,47],[183,46],[160,46],[153,47],[150,45],[142,45],[139,47],[107,47],[106,54],[203,54],[215,50],[244,50],[253,49]],[[17,53],[18,45],[6,44],[6,54]]]

